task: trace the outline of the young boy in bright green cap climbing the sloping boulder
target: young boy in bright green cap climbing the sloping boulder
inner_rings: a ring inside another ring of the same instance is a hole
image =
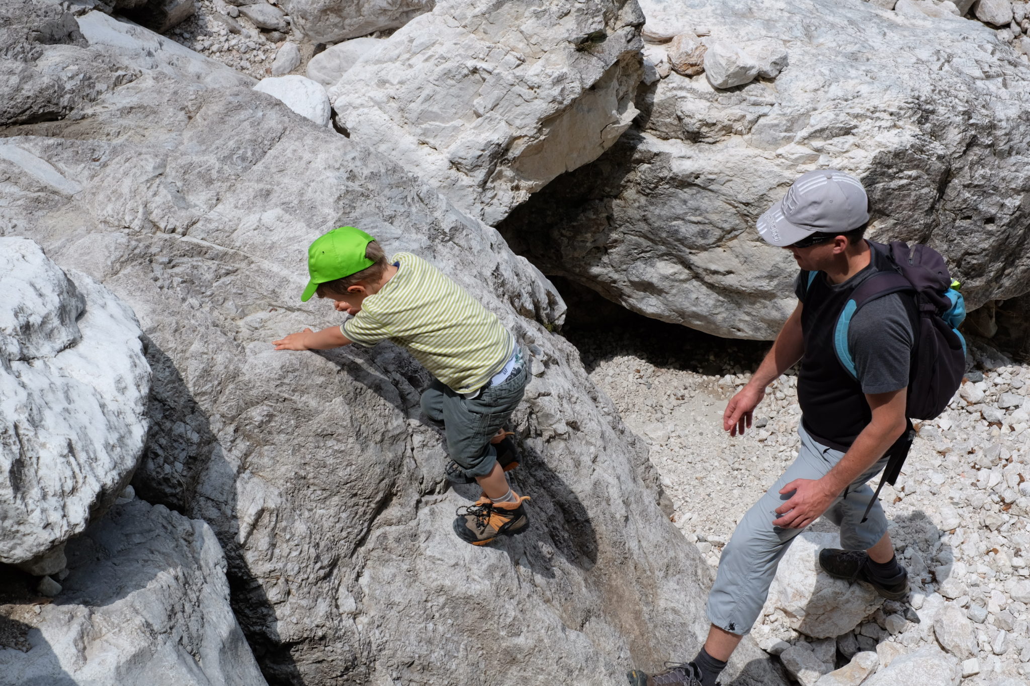
[[[422,411],[443,422],[455,464],[448,478],[483,489],[475,505],[458,508],[454,532],[473,545],[518,534],[528,518],[497,462],[512,461],[514,445],[503,427],[522,399],[528,372],[515,338],[465,289],[411,253],[389,260],[371,236],[342,226],[308,248],[311,281],[302,301],[315,293],[353,315],[342,326],[304,329],[274,341],[275,350],[328,350],[351,342],[390,340],[407,349],[435,377],[422,394]],[[496,445],[495,445],[496,444]],[[507,459],[507,460],[506,460]],[[464,511],[462,511],[464,510]]]

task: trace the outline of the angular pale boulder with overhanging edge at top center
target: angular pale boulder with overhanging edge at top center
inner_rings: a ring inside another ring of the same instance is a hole
[[[330,88],[350,136],[489,224],[629,127],[636,0],[446,0]]]

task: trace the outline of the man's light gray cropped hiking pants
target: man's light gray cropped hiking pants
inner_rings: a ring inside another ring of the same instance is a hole
[[[840,450],[817,443],[800,425],[797,433],[801,438],[797,459],[744,515],[719,558],[719,572],[709,593],[709,621],[732,634],[751,630],[765,604],[780,559],[803,531],[772,526],[772,520],[781,516],[776,508],[793,495],[780,495],[780,489],[794,479],[821,478],[844,457]],[[872,504],[869,518],[861,523],[862,513],[872,499],[872,489],[865,482],[886,465],[884,457],[865,470],[823,515],[840,527],[842,548],[866,550],[887,533],[887,517],[879,502]]]

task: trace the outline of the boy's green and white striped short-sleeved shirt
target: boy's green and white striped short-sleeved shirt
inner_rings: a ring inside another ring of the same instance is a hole
[[[515,339],[478,300],[424,259],[398,253],[400,266],[362,311],[341,326],[363,346],[390,340],[457,393],[471,393],[501,371]]]

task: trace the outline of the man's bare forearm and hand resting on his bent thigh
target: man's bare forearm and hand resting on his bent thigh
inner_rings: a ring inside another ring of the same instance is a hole
[[[858,434],[840,461],[820,479],[794,479],[780,493],[794,495],[776,509],[781,514],[772,525],[786,529],[803,529],[822,516],[837,496],[859,475],[884,457],[908,426],[905,419],[903,388],[889,393],[866,394],[865,400],[872,410],[872,420]]]

